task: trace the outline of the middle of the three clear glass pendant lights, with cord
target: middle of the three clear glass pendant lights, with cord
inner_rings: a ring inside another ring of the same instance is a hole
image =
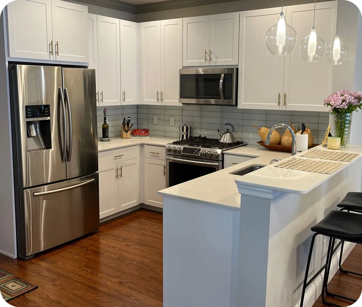
[[[321,58],[325,50],[325,42],[321,39],[316,32],[314,26],[316,19],[316,0],[314,0],[314,18],[311,33],[299,44],[299,53],[304,61],[317,62]]]

